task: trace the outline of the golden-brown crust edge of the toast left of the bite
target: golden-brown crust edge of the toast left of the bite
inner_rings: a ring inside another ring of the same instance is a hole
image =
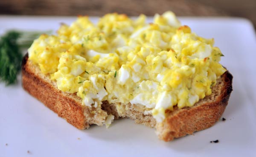
[[[89,124],[85,120],[84,108],[81,102],[79,103],[65,96],[60,90],[49,84],[49,82],[39,78],[39,76],[28,67],[28,64],[26,64],[27,60],[28,54],[24,56],[22,61],[23,88],[76,128],[88,128]]]

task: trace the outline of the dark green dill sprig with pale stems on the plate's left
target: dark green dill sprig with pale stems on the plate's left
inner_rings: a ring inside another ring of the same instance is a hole
[[[6,85],[17,81],[17,74],[21,69],[23,48],[29,48],[35,38],[42,33],[11,30],[0,37],[0,81]]]

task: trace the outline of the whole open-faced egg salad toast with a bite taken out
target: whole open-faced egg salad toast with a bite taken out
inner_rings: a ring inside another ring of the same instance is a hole
[[[76,128],[128,117],[169,141],[209,128],[224,112],[232,75],[213,39],[173,12],[131,19],[79,16],[41,35],[23,59],[23,88]]]

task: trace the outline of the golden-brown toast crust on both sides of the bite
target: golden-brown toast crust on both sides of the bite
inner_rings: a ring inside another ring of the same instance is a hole
[[[81,101],[73,99],[73,96],[67,96],[51,83],[41,79],[26,64],[27,59],[26,54],[22,62],[22,82],[26,91],[76,128],[89,128],[90,124],[94,124],[89,120],[92,116],[90,110],[81,105]],[[227,106],[232,91],[232,78],[233,76],[228,71],[221,76],[224,85],[220,86],[222,92],[215,98],[215,101],[197,103],[199,105],[191,108],[170,112],[162,123],[156,125],[159,139],[170,141],[214,125]]]

